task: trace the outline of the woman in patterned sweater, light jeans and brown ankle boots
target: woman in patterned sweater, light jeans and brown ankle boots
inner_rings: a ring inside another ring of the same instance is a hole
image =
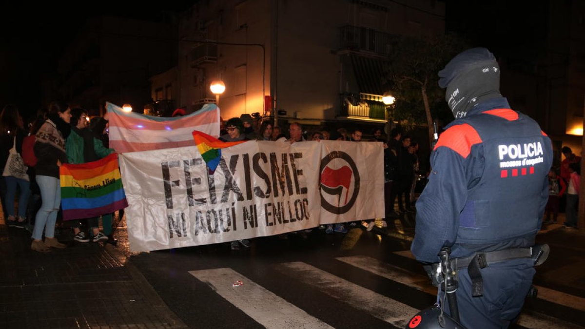
[[[66,248],[66,245],[55,238],[55,222],[61,205],[59,167],[62,163],[67,163],[65,140],[71,132],[70,119],[71,109],[67,104],[53,102],[49,105],[47,121],[36,134],[36,181],[43,204],[36,214],[30,249],[37,252],[50,252],[49,247]]]

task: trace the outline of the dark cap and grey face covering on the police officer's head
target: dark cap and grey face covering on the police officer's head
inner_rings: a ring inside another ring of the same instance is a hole
[[[500,66],[485,48],[473,48],[453,57],[439,71],[439,87],[455,118],[463,118],[477,103],[501,97]]]

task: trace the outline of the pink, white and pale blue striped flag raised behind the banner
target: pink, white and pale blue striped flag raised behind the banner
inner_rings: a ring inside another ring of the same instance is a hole
[[[106,105],[109,146],[118,153],[192,146],[194,129],[219,136],[219,108],[215,104],[176,118],[127,113],[111,103]]]

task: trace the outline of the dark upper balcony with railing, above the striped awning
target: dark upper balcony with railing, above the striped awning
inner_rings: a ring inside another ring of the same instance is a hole
[[[341,50],[356,52],[370,52],[387,56],[390,54],[391,44],[396,36],[374,29],[346,25],[340,29]]]

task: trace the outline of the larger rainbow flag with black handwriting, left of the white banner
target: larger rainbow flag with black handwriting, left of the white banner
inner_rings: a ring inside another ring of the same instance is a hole
[[[79,165],[66,163],[59,172],[63,220],[98,217],[128,207],[117,153]]]

